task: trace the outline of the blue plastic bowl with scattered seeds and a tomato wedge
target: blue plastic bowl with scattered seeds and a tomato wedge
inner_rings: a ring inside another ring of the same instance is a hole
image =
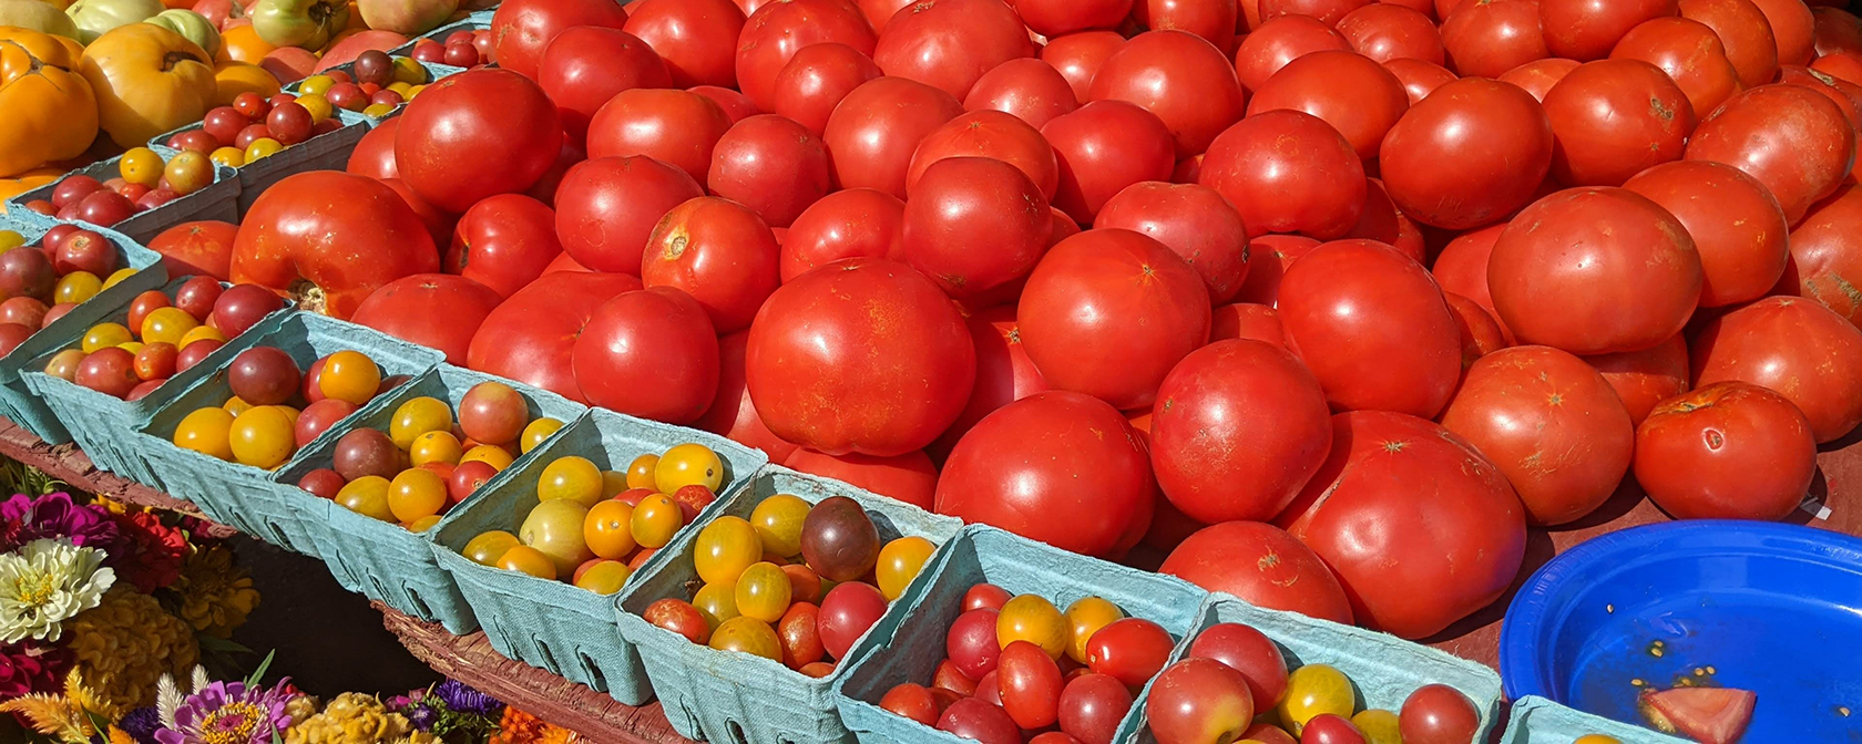
[[[1590,539],[1540,567],[1501,627],[1510,699],[1642,724],[1637,683],[1754,690],[1747,744],[1862,740],[1858,658],[1862,539],[1771,523]]]

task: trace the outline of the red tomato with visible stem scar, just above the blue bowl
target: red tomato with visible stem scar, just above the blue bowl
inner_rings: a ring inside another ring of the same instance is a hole
[[[1655,405],[1635,443],[1637,482],[1678,519],[1784,519],[1817,474],[1804,415],[1786,396],[1743,381]]]

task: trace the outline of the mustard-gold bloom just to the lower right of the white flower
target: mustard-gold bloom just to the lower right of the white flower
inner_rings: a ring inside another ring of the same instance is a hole
[[[71,649],[110,718],[155,703],[162,675],[184,677],[201,657],[194,629],[128,584],[71,621]]]

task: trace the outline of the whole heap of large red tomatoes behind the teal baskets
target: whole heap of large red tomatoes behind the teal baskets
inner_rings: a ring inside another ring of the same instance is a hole
[[[1815,6],[508,0],[231,281],[1426,638],[1626,476],[1778,519],[1862,422]]]

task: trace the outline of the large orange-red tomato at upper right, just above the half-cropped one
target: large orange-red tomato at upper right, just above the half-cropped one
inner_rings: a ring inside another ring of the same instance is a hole
[[[1726,100],[1687,141],[1687,160],[1713,160],[1758,179],[1793,225],[1836,193],[1855,162],[1855,130],[1827,97],[1802,86],[1760,86]]]

